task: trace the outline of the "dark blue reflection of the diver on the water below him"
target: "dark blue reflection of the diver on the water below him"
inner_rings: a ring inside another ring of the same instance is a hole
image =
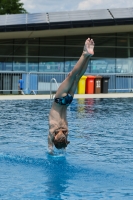
[[[61,199],[62,194],[67,189],[68,179],[70,178],[70,171],[67,161],[64,158],[48,158],[51,162],[47,171],[47,185],[46,196],[50,199],[54,196],[55,199]],[[52,173],[51,173],[52,172]],[[44,173],[46,173],[44,171]]]

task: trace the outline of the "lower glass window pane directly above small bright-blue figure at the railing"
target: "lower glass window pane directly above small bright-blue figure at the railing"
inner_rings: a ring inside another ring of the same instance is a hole
[[[26,58],[15,57],[13,60],[13,71],[26,71]]]

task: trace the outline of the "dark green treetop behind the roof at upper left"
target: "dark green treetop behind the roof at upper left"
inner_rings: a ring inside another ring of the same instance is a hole
[[[27,13],[20,0],[0,0],[0,15]]]

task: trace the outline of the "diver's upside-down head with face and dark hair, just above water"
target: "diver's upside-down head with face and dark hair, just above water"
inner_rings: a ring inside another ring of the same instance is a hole
[[[55,145],[55,147],[57,149],[62,149],[62,148],[65,148],[67,147],[67,145],[70,143],[68,140],[67,140],[67,135],[65,135],[62,131],[62,129],[60,129],[56,134],[55,134],[55,137],[53,139],[53,143]]]

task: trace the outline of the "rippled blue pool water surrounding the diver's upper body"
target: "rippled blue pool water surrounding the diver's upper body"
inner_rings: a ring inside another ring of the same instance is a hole
[[[77,99],[47,152],[49,100],[0,101],[0,199],[133,199],[133,99]]]

